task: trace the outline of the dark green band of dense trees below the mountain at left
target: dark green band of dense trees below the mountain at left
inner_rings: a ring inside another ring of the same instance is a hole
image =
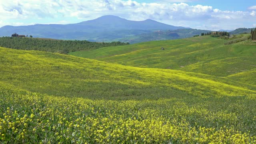
[[[2,37],[0,46],[20,50],[39,50],[67,54],[75,51],[88,51],[107,46],[127,45],[123,42],[89,42],[86,40],[53,40],[41,38]]]

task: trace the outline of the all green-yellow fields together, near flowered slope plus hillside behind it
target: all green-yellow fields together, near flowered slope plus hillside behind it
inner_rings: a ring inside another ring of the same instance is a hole
[[[0,143],[256,143],[256,45],[229,41],[0,48]]]

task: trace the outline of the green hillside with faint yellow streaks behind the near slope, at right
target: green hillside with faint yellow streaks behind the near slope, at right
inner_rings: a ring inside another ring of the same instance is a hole
[[[70,54],[126,66],[182,70],[226,77],[256,68],[255,44],[246,44],[246,42],[229,44],[240,40],[239,38],[223,40],[199,36]],[[165,50],[161,50],[161,47]]]

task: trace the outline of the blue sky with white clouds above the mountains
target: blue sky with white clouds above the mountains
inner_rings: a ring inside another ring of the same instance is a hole
[[[205,30],[256,27],[256,0],[0,0],[0,27],[115,15]]]

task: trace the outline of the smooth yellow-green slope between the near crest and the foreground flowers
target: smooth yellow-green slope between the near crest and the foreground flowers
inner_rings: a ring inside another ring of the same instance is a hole
[[[157,99],[185,95],[241,96],[256,92],[254,86],[178,70],[136,68],[7,48],[0,48],[0,54],[0,82],[50,95]]]

